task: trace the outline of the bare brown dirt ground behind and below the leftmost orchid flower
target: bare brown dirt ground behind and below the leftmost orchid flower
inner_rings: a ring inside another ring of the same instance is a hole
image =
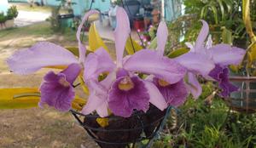
[[[20,30],[19,30],[20,31]],[[38,41],[50,41],[62,46],[77,46],[59,35],[40,36],[25,32],[1,34],[0,31],[0,88],[38,87],[44,69],[29,76],[10,73],[5,60],[16,50]],[[113,48],[113,44],[108,44]],[[85,134],[70,113],[53,109],[0,110],[1,148],[94,148],[96,143]]]

